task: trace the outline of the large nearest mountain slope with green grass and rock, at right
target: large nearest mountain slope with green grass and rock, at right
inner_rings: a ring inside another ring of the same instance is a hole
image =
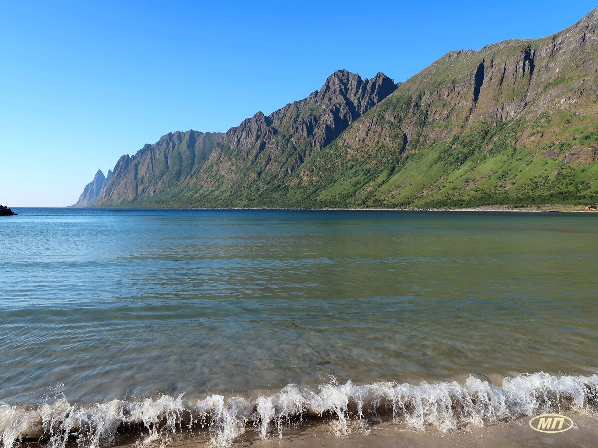
[[[306,161],[283,202],[596,201],[597,23],[594,10],[548,38],[446,54]]]

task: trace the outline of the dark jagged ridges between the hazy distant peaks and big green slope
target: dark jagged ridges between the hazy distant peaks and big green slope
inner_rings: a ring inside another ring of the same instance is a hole
[[[210,133],[168,134],[154,145],[145,145],[133,158],[121,157],[99,203],[175,205],[197,190],[234,197],[249,185],[289,175],[395,89],[395,83],[381,73],[362,80],[346,70],[337,71],[307,98],[268,116],[257,112],[224,135],[211,134],[209,145],[202,146],[202,157],[186,165],[178,161],[177,166],[186,169],[176,170],[176,175],[168,167],[173,154],[181,160],[193,159],[187,135],[199,142]]]

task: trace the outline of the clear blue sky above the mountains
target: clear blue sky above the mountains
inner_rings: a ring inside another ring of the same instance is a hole
[[[539,38],[569,2],[0,2],[0,204],[66,206],[167,132],[225,131],[337,69],[404,81],[450,50]]]

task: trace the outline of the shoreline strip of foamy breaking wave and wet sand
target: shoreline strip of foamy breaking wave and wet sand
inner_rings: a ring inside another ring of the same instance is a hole
[[[208,395],[185,400],[180,394],[91,406],[70,404],[65,397],[36,408],[4,405],[0,425],[9,447],[11,441],[44,446],[48,437],[61,441],[53,448],[68,448],[75,439],[84,441],[80,446],[127,448],[159,442],[181,448],[445,447],[475,446],[481,439],[484,446],[497,448],[528,441],[539,446],[538,441],[556,436],[534,431],[529,422],[547,413],[570,416],[577,425],[559,433],[568,437],[559,440],[570,442],[571,434],[584,443],[598,440],[597,391],[596,374],[535,373],[505,378],[502,386],[473,376],[464,383],[419,385],[347,382],[307,389],[289,384],[255,399]],[[577,442],[562,446],[585,446]]]

